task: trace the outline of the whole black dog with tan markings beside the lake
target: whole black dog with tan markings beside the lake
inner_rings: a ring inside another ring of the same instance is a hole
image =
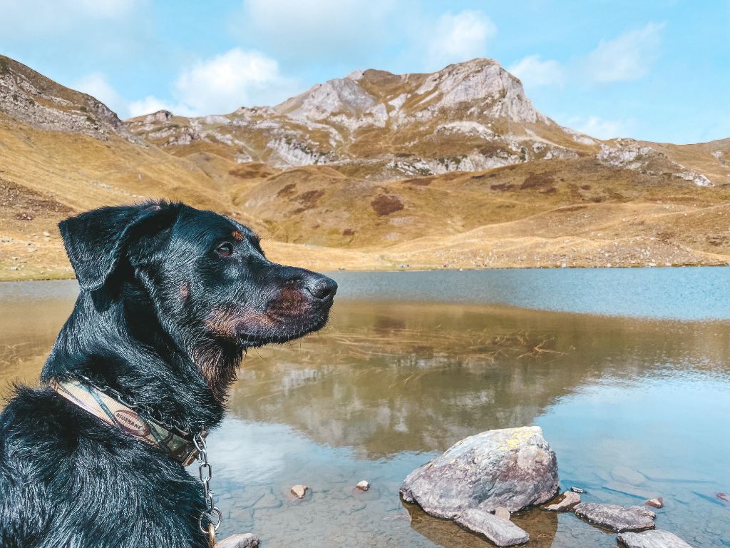
[[[337,284],[269,262],[247,227],[179,203],[59,227],[81,292],[42,371],[50,387],[18,389],[0,415],[0,545],[207,547],[201,526],[217,517],[201,518],[210,506],[180,461],[223,419],[245,350],[323,327]],[[131,411],[108,424],[64,386]]]

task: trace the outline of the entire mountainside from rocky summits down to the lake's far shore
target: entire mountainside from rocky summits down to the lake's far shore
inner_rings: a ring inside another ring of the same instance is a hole
[[[70,275],[61,218],[153,197],[226,213],[316,269],[730,263],[730,140],[593,139],[496,61],[121,122],[0,57],[0,278]]]

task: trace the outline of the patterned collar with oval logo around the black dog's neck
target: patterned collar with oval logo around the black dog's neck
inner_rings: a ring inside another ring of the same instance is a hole
[[[99,389],[78,381],[58,381],[56,379],[51,381],[50,387],[58,395],[101,419],[107,425],[118,427],[146,444],[159,447],[183,466],[191,464],[198,456],[198,449],[193,444],[192,436],[188,438],[185,435],[171,432],[158,421],[140,415],[133,408],[104,394]]]

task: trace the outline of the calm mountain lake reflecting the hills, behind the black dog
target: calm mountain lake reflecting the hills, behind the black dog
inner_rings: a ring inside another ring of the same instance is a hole
[[[398,488],[467,435],[534,424],[561,488],[623,505],[661,496],[657,528],[730,546],[730,268],[331,275],[331,324],[250,351],[209,438],[219,536],[488,547],[404,505]],[[37,382],[76,292],[74,281],[0,283],[6,394],[10,381]],[[368,492],[353,490],[361,479]],[[304,501],[288,493],[300,483]],[[513,520],[531,547],[615,547],[572,514]]]

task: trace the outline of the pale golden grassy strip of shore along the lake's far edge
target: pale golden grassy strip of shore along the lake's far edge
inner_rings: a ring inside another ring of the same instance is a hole
[[[0,251],[0,281],[74,278],[60,238],[35,238],[23,245],[0,243]],[[730,265],[730,255],[677,249],[653,239],[627,247],[569,238],[561,238],[559,243],[520,238],[439,246],[437,241],[422,238],[387,248],[358,249],[264,240],[264,251],[274,262],[331,272]]]

